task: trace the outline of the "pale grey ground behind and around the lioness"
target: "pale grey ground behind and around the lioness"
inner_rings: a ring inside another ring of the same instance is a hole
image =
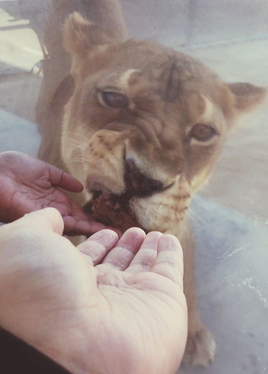
[[[0,1],[0,151],[37,154],[41,77],[29,71],[42,58],[46,7]],[[185,49],[229,82],[268,85],[267,0],[125,0],[124,9],[131,35]],[[181,373],[268,371],[267,104],[243,117],[192,203],[200,310],[218,350],[210,368]]]

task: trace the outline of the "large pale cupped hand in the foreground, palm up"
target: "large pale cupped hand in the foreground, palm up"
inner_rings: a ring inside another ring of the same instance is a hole
[[[0,228],[0,325],[74,374],[175,373],[187,338],[172,235],[102,230],[74,247],[47,208]]]

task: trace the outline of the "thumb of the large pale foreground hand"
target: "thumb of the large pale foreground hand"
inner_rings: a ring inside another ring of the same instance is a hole
[[[27,226],[37,229],[53,231],[62,235],[64,222],[60,212],[55,208],[44,208],[36,212],[25,214],[19,220],[9,224],[18,226]]]

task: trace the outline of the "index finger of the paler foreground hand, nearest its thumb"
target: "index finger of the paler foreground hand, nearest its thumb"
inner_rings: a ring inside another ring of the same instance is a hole
[[[118,242],[118,235],[112,230],[101,230],[89,237],[84,243],[77,246],[80,252],[89,256],[92,265],[101,263],[107,253]]]

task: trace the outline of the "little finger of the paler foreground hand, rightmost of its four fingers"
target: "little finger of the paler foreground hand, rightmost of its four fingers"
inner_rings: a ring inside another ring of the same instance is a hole
[[[169,278],[183,289],[183,253],[179,240],[171,234],[160,237],[151,272]]]

